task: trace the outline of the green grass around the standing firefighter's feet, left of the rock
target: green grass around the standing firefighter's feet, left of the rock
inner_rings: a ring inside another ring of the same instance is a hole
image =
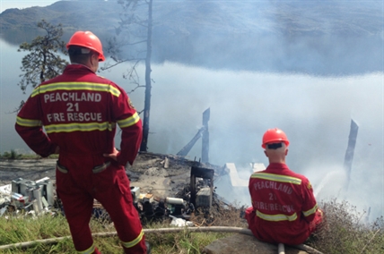
[[[0,217],[0,245],[24,241],[69,236],[69,228],[65,217],[43,215],[38,217],[28,216],[2,216]],[[149,228],[169,227],[169,221],[163,224],[151,224]],[[92,233],[114,232],[112,224],[92,219]],[[202,248],[210,242],[224,237],[225,233],[148,233],[146,240],[151,242],[153,253],[201,253]],[[98,249],[102,253],[123,253],[118,237],[94,237]],[[52,244],[36,244],[28,249],[0,250],[0,253],[74,253],[71,239],[60,240]]]

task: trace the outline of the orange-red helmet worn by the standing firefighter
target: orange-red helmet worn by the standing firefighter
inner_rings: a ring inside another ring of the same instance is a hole
[[[80,46],[92,49],[99,53],[100,62],[105,60],[100,39],[90,31],[76,31],[66,44],[66,48],[68,49],[70,46]]]

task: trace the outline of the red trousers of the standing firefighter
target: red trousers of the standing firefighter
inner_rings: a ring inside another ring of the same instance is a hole
[[[112,162],[104,170],[93,172],[95,166],[103,165],[105,161],[100,156],[60,155],[57,165],[57,195],[63,203],[74,248],[83,251],[92,246],[89,223],[93,199],[97,199],[114,222],[118,238],[127,247],[124,248],[126,253],[146,253],[142,225],[133,205],[124,167]]]

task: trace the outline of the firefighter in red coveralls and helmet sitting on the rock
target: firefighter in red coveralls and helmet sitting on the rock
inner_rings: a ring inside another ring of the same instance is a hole
[[[298,245],[315,231],[323,213],[309,180],[285,165],[288,145],[284,131],[270,129],[264,134],[262,148],[269,165],[250,176],[252,207],[245,218],[258,240]]]

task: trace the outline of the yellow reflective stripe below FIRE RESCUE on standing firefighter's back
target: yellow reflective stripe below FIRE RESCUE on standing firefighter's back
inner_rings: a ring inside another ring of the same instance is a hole
[[[45,125],[44,128],[47,133],[52,132],[74,132],[74,131],[105,131],[112,129],[116,126],[116,123],[62,123],[62,124],[50,124]]]

